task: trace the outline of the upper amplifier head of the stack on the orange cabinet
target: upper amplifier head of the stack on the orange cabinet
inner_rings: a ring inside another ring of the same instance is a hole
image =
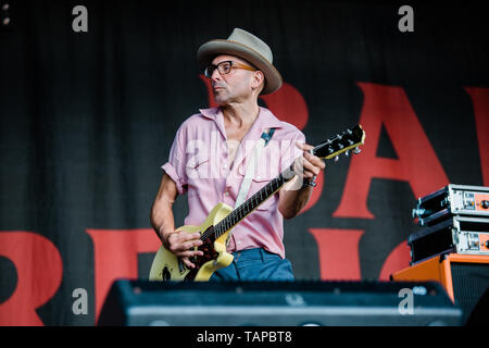
[[[453,215],[489,219],[489,187],[450,184],[418,198],[413,209],[421,226],[432,226]]]

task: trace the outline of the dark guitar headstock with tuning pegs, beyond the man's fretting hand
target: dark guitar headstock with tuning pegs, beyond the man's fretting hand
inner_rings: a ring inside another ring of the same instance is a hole
[[[325,160],[335,158],[338,160],[340,153],[349,156],[350,150],[353,149],[353,153],[360,152],[360,146],[365,141],[365,132],[360,124],[352,128],[344,130],[337,136],[327,139],[326,141],[314,147],[312,150],[314,156],[317,156]]]

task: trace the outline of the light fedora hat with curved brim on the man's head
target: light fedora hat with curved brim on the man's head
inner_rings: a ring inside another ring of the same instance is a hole
[[[268,95],[281,86],[280,73],[273,65],[273,54],[268,45],[251,33],[235,28],[225,39],[215,39],[203,44],[197,51],[197,60],[203,67],[210,65],[218,54],[239,57],[265,75],[265,86],[262,95]]]

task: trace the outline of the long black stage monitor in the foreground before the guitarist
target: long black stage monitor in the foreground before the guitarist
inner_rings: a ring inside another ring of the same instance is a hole
[[[117,279],[98,325],[425,326],[460,325],[461,315],[435,282]]]

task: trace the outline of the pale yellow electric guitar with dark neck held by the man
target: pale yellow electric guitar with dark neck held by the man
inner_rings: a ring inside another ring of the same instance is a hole
[[[350,150],[359,153],[359,146],[365,141],[365,132],[361,125],[344,130],[310,152],[318,158],[338,160],[340,153],[349,156]],[[226,252],[226,239],[230,229],[248,216],[254,209],[272,197],[287,182],[296,175],[292,165],[266,184],[262,189],[233,210],[225,203],[218,203],[209,213],[200,226],[181,226],[176,231],[188,233],[199,232],[203,244],[198,247],[203,251],[202,257],[193,257],[195,269],[188,269],[173,252],[161,246],[158,250],[150,271],[150,281],[209,281],[212,274],[233,262],[233,254]]]

